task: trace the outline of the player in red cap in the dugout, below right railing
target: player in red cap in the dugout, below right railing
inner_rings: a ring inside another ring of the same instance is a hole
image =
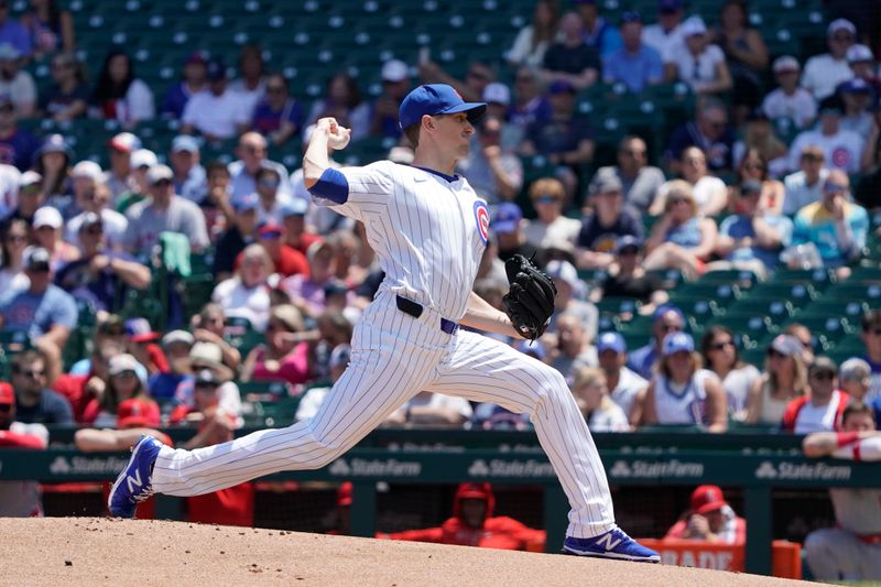
[[[715,485],[701,485],[692,492],[692,503],[665,539],[689,539],[725,544],[744,544],[747,521],[735,513]]]

